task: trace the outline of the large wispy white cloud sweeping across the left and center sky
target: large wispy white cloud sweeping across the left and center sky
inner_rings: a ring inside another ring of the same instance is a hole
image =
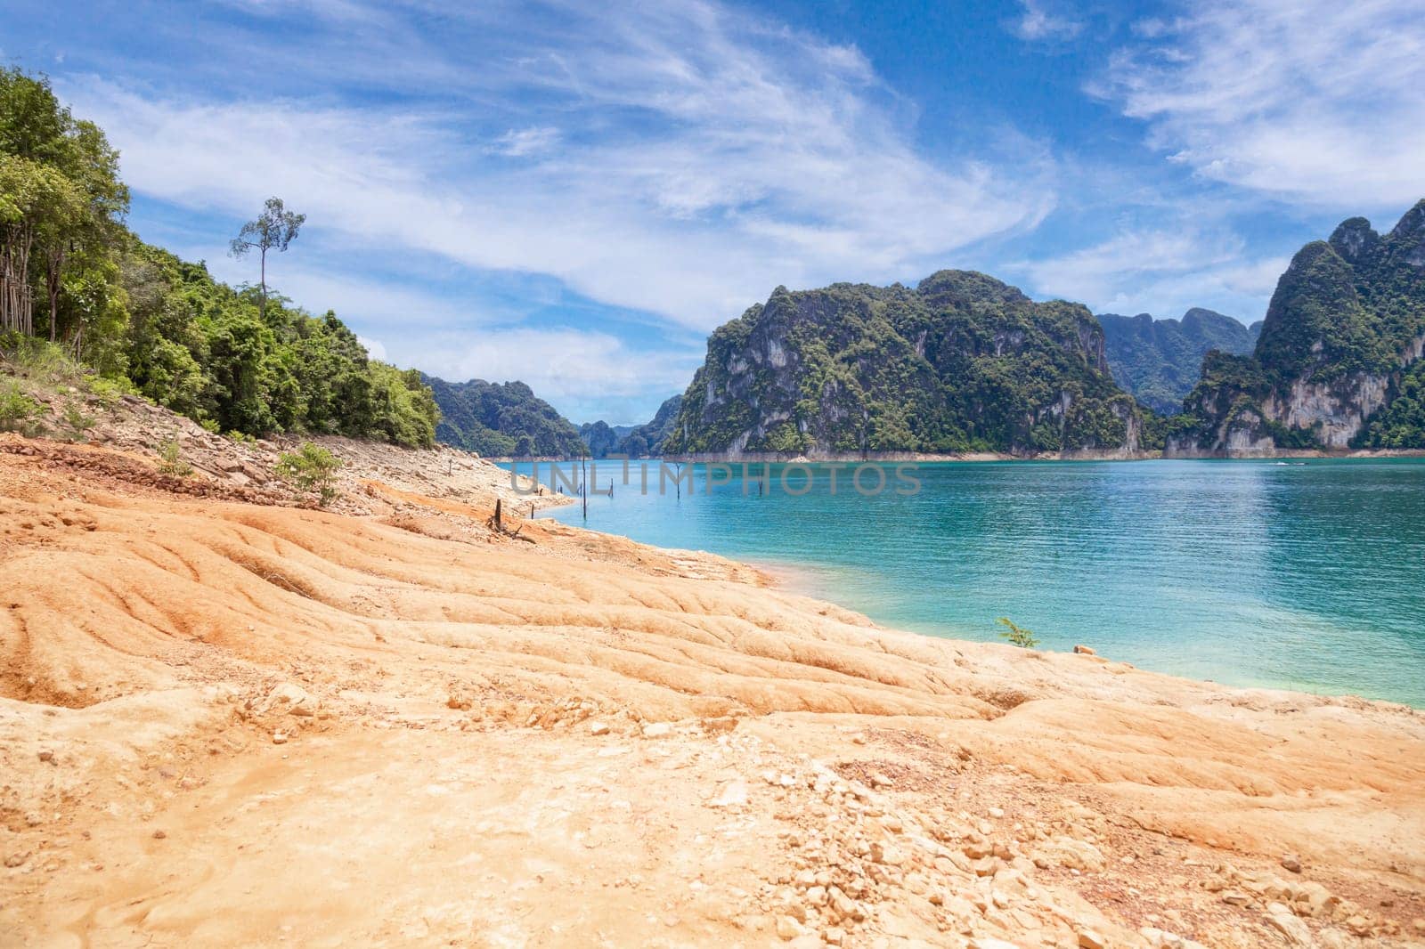
[[[103,80],[63,91],[108,130],[142,195],[237,217],[281,194],[314,232],[553,275],[701,331],[778,284],[901,278],[1053,207],[1042,148],[921,154],[852,47],[712,3],[556,7],[542,30],[500,33],[506,19],[475,10],[452,14],[459,41],[380,46],[369,74],[409,93],[399,110]],[[416,43],[399,24],[379,33]],[[349,58],[341,68],[362,50]],[[422,104],[436,73],[469,108]]]

